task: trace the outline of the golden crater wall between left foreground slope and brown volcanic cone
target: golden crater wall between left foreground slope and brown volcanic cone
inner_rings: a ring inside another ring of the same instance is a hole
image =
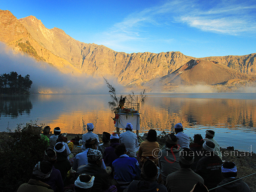
[[[102,45],[76,41],[61,29],[47,29],[33,16],[19,21],[44,48],[65,58],[82,73],[115,76],[124,85],[141,84],[165,76],[192,58],[180,52],[115,52]]]

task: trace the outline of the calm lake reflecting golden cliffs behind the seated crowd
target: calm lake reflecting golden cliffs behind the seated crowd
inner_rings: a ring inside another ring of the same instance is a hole
[[[115,127],[109,99],[109,95],[1,96],[0,131],[37,120],[52,130],[58,126],[61,132],[81,134],[92,122],[95,133],[111,133]],[[171,132],[182,122],[190,137],[195,133],[204,137],[205,131],[212,129],[222,147],[256,151],[255,93],[149,94],[140,107],[140,118],[140,134],[151,128],[159,134]]]

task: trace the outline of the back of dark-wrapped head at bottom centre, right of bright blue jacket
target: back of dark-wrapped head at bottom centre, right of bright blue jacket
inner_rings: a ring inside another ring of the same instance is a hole
[[[152,160],[146,160],[141,169],[141,176],[144,180],[154,180],[157,172],[157,165]]]

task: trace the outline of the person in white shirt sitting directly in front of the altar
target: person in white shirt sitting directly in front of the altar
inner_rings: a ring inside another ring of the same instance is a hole
[[[125,132],[119,135],[119,142],[125,145],[129,157],[137,157],[138,138],[137,135],[132,132],[131,123],[127,123]]]

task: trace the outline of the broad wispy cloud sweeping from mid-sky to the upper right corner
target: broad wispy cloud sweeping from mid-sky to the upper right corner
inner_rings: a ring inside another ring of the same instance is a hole
[[[256,3],[249,3],[239,0],[168,0],[161,5],[131,13],[122,22],[103,32],[99,41],[108,47],[116,47],[118,44],[122,47],[121,44],[129,41],[138,44],[154,42],[159,37],[150,30],[154,28],[157,34],[157,31],[161,32],[172,24],[226,35],[255,35]],[[165,38],[170,39],[166,36],[159,41]],[[165,43],[169,44],[170,41]],[[128,46],[126,44],[126,49]],[[130,46],[134,50],[134,44]]]

